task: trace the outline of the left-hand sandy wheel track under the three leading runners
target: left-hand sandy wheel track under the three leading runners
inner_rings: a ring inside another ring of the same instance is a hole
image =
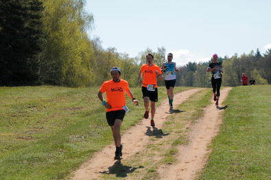
[[[183,101],[186,101],[192,94],[202,90],[200,88],[186,90],[174,94],[174,105],[178,105]],[[169,116],[168,99],[165,99],[161,106],[156,107],[156,114],[154,117],[155,125],[157,129],[163,127],[165,118]],[[143,115],[142,115],[143,116]],[[121,143],[123,144],[123,158],[128,158],[131,155],[137,153],[137,151],[143,151],[145,144],[148,144],[149,136],[146,136],[146,127],[150,127],[150,118],[148,120],[143,119],[141,123],[138,123],[126,133],[121,136]],[[83,164],[73,175],[74,180],[78,179],[99,179],[102,176],[100,172],[105,172],[108,167],[115,163],[113,156],[115,154],[115,145],[110,144],[106,146],[102,152],[95,153],[89,162]]]

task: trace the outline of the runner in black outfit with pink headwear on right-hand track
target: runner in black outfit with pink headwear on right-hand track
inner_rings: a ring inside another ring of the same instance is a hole
[[[212,74],[211,83],[213,86],[213,101],[216,101],[215,105],[218,105],[218,100],[220,99],[220,86],[222,83],[221,73],[223,73],[222,63],[217,62],[217,58],[217,54],[214,54],[213,62],[211,62],[211,64],[209,64],[209,67],[207,68],[207,73],[211,72]]]

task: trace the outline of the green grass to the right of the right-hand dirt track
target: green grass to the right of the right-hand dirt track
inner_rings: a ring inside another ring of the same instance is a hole
[[[270,104],[270,86],[231,90],[220,134],[200,179],[271,179]]]

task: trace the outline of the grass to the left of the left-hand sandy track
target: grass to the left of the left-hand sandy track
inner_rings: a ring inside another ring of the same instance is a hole
[[[175,92],[187,89],[176,87]],[[64,179],[112,143],[98,91],[99,87],[0,88],[1,179]],[[131,91],[140,106],[127,98],[130,112],[121,133],[143,118],[141,89]],[[158,97],[167,97],[165,87],[158,88]]]

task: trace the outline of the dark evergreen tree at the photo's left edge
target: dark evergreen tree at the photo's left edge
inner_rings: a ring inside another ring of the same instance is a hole
[[[32,57],[40,51],[41,4],[36,0],[0,2],[1,86],[27,85],[37,79]]]

